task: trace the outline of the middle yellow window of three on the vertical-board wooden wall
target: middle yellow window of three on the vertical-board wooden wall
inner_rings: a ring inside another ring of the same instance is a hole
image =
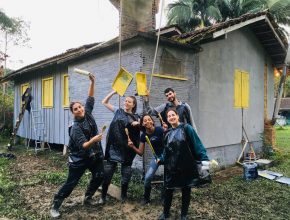
[[[53,107],[53,77],[42,80],[42,107]]]

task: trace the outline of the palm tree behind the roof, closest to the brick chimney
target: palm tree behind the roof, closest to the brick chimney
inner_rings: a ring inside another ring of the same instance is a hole
[[[168,5],[168,25],[177,24],[184,31],[210,26],[222,20],[216,0],[178,0]]]

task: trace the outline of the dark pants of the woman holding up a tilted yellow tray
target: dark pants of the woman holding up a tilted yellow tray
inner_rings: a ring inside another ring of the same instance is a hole
[[[109,185],[111,184],[113,175],[117,169],[117,163],[108,161],[105,166],[105,176],[104,182],[102,185],[102,197],[106,198]],[[128,187],[128,184],[131,180],[132,168],[130,165],[121,164],[121,185]]]

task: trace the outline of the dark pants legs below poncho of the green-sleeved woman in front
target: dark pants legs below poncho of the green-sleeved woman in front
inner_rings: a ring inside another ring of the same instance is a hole
[[[173,191],[174,189],[165,189],[165,192],[164,192],[163,212],[166,217],[169,216],[172,197],[173,197]],[[191,188],[183,187],[181,189],[181,192],[182,192],[181,216],[186,216],[188,212],[189,203],[190,203]]]

